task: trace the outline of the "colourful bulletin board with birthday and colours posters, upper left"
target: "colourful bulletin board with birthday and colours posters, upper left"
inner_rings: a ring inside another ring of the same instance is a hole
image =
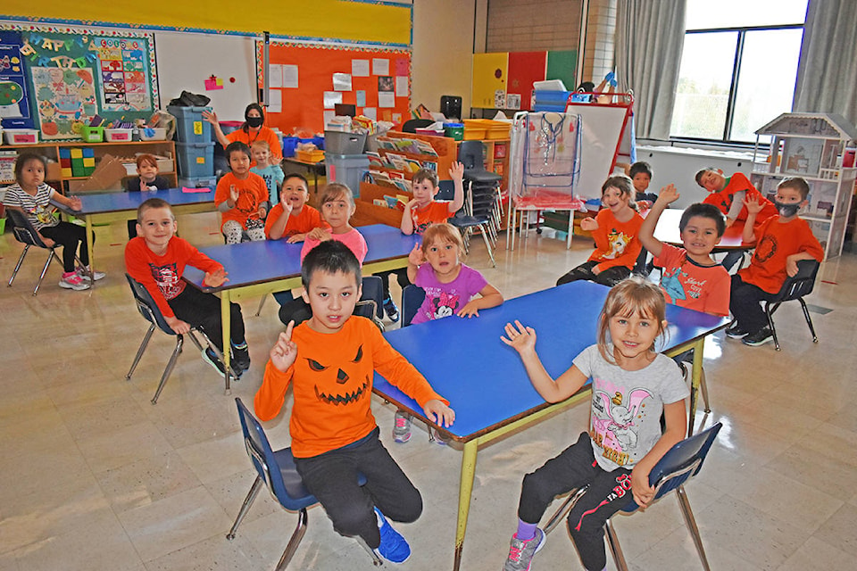
[[[147,119],[158,102],[154,36],[135,30],[2,24],[17,32],[29,74],[28,112],[45,140],[79,138],[80,127]]]

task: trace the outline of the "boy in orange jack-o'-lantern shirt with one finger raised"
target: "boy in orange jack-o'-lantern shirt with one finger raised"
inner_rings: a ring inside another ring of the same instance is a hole
[[[441,426],[453,424],[454,412],[370,319],[352,315],[361,274],[348,246],[322,242],[306,254],[301,274],[312,318],[297,327],[290,322],[279,334],[256,393],[256,415],[276,417],[292,385],[292,454],[307,491],[339,534],[359,535],[381,557],[401,563],[411,548],[387,517],[415,521],[422,499],[379,441],[370,409],[374,371],[411,395]],[[357,484],[358,472],[366,476],[363,486]]]

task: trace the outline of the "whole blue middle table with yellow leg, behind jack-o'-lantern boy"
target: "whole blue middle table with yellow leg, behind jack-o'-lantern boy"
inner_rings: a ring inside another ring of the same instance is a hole
[[[357,228],[366,239],[368,252],[363,261],[363,275],[370,276],[387,269],[405,268],[408,254],[420,236],[404,236],[399,228],[372,224]],[[187,267],[184,279],[199,290],[220,294],[220,317],[223,319],[223,347],[229,348],[229,303],[248,297],[294,289],[301,285],[301,248],[304,244],[287,244],[286,240],[244,242],[202,248],[206,256],[223,264],[229,281],[220,287],[203,285],[204,272]],[[223,359],[229,368],[229,351]],[[229,375],[226,375],[229,394]]]

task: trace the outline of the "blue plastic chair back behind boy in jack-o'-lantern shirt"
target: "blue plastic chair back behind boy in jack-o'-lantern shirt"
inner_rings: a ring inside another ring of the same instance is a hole
[[[268,485],[280,504],[286,509],[297,511],[308,508],[317,500],[304,487],[301,476],[295,469],[295,459],[292,450],[284,448],[274,452],[270,448],[268,436],[262,424],[245,407],[241,399],[236,398],[238,418],[241,421],[241,431],[244,433],[244,444],[247,455],[253,462],[256,472]]]

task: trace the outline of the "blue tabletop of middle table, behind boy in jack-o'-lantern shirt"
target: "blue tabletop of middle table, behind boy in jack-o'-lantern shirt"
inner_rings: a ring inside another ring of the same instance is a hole
[[[364,264],[407,256],[420,236],[405,236],[399,228],[372,224],[357,228],[366,239],[368,252]],[[287,244],[286,240],[243,242],[201,248],[200,251],[223,264],[229,281],[220,287],[203,287],[204,272],[187,267],[184,277],[205,292],[263,284],[301,273],[301,248],[304,244]]]

